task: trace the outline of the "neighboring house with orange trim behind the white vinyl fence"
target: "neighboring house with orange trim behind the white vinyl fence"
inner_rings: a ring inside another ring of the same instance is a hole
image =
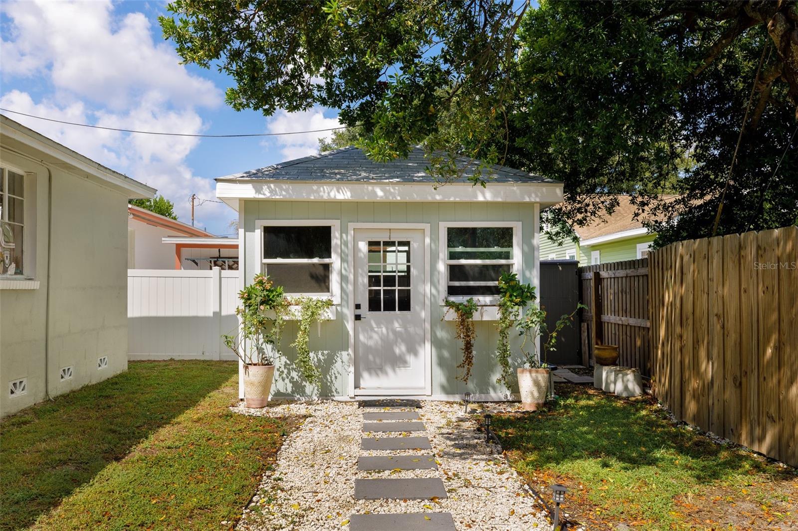
[[[239,242],[128,205],[128,269],[238,269]]]

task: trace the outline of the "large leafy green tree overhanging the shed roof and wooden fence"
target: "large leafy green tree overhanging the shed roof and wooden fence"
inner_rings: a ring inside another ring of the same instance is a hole
[[[618,193],[634,194],[660,243],[712,234],[721,206],[720,234],[798,218],[795,0],[169,9],[180,19],[160,19],[164,36],[184,61],[219,61],[233,108],[339,108],[369,156],[422,144],[442,182],[464,168],[441,152],[483,160],[475,183],[489,163],[563,180],[566,202],[547,210],[555,237],[611,212]],[[681,199],[661,201],[667,187]]]

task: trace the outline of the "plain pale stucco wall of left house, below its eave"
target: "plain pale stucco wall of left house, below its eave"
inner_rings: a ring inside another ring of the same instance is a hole
[[[36,173],[35,279],[41,283],[38,289],[0,290],[0,412],[7,415],[46,398],[45,352],[53,396],[127,368],[128,216],[120,192],[51,167],[48,285],[47,169],[9,151],[2,151],[2,160]],[[108,367],[98,369],[101,356],[108,356]],[[73,376],[61,381],[67,366]],[[9,382],[19,378],[27,378],[27,391],[10,398]]]

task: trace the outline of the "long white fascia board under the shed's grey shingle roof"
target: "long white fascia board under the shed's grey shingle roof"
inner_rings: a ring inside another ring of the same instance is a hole
[[[296,201],[489,201],[494,203],[542,203],[551,206],[563,201],[561,183],[342,183],[267,181],[263,179],[216,182],[216,197],[235,208],[232,199]]]

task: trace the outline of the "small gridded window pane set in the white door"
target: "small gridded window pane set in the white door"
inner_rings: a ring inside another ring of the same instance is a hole
[[[369,312],[410,311],[410,242],[369,240]]]

